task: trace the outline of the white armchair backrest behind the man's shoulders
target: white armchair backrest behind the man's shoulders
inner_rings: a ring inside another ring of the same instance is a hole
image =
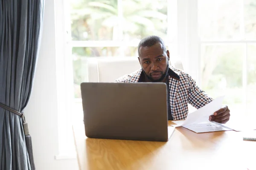
[[[88,59],[87,63],[88,82],[114,82],[119,77],[141,68],[137,57],[95,57]],[[183,70],[180,61],[174,62],[173,66]]]

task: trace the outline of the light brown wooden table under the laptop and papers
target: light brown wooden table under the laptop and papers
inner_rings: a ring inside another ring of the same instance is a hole
[[[168,142],[90,139],[84,125],[73,133],[80,170],[256,170],[256,142],[243,132],[177,127]]]

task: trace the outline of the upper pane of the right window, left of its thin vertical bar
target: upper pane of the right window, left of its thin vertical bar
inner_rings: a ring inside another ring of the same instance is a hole
[[[201,39],[239,38],[241,2],[241,0],[198,0]]]

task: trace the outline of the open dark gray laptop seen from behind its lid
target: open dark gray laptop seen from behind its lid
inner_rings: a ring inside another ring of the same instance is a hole
[[[165,83],[81,83],[85,135],[167,142],[166,94]]]

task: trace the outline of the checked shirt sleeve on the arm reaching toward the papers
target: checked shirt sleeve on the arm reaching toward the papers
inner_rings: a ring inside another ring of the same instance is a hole
[[[208,96],[208,94],[206,94],[205,91],[201,90],[201,88],[198,87],[195,80],[192,79],[191,76],[187,76],[189,81],[189,104],[199,109],[204,105],[207,105],[209,102],[211,102],[213,99],[210,96]]]

